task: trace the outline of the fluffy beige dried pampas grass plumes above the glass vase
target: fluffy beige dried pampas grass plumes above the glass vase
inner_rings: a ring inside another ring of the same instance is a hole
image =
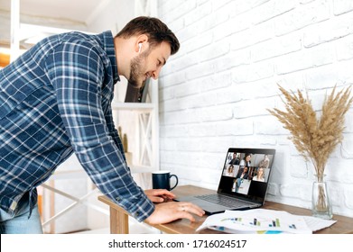
[[[308,94],[304,97],[300,90],[294,94],[280,85],[279,89],[284,95],[286,112],[278,109],[268,111],[283,123],[283,128],[291,132],[289,139],[305,160],[312,161],[318,181],[322,182],[327,160],[343,139],[344,115],[353,102],[353,98],[349,98],[350,86],[337,94],[335,86],[332,93],[326,95],[320,119],[312,108]]]

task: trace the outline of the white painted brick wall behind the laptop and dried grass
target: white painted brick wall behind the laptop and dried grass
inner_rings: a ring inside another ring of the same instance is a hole
[[[276,148],[268,200],[311,207],[313,168],[266,111],[277,84],[304,89],[315,109],[353,83],[353,1],[159,1],[181,40],[160,77],[161,167],[181,184],[216,189],[229,147]],[[333,211],[353,217],[353,108],[326,168]]]

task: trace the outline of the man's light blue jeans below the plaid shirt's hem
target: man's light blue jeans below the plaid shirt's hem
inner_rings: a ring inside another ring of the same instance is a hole
[[[0,234],[42,234],[38,205],[33,208],[30,219],[29,214],[29,197],[23,197],[18,202],[14,215],[0,209]]]

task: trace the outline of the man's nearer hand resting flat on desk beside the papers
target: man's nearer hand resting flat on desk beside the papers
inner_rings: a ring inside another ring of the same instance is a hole
[[[145,221],[148,224],[163,224],[182,218],[195,221],[191,213],[202,216],[205,211],[190,202],[165,202],[156,204],[155,210]]]

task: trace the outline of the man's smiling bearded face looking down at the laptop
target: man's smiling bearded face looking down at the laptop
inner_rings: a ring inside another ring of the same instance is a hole
[[[157,79],[162,67],[171,56],[171,46],[167,42],[144,49],[131,60],[128,83],[136,88],[144,85],[149,77]]]

